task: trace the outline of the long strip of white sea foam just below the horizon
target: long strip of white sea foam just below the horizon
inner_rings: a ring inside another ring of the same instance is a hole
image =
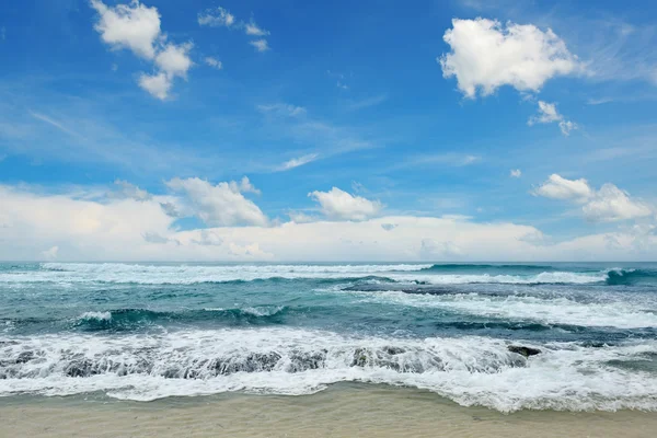
[[[397,281],[458,285],[488,284],[595,284],[608,278],[597,273],[544,272],[537,275],[438,274],[423,270],[431,265],[142,265],[125,263],[44,263],[42,269],[0,274],[0,283],[28,284],[51,281],[60,285],[114,283],[189,285],[197,283],[252,281],[268,278],[361,278],[382,276]]]

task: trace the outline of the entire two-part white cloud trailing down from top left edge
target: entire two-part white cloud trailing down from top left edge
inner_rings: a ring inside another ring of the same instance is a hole
[[[91,0],[91,5],[99,13],[94,28],[105,44],[113,49],[130,49],[135,55],[152,60],[155,71],[142,72],[137,83],[153,97],[166,100],[174,78],[186,79],[187,71],[194,66],[189,57],[193,44],[168,43],[155,7],[146,7],[138,0],[115,7]]]

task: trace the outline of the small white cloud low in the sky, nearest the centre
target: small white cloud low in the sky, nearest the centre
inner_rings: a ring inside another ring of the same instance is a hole
[[[333,219],[366,220],[377,216],[383,208],[378,200],[354,196],[337,187],[328,192],[314,191],[308,196],[320,203],[322,212]]]

